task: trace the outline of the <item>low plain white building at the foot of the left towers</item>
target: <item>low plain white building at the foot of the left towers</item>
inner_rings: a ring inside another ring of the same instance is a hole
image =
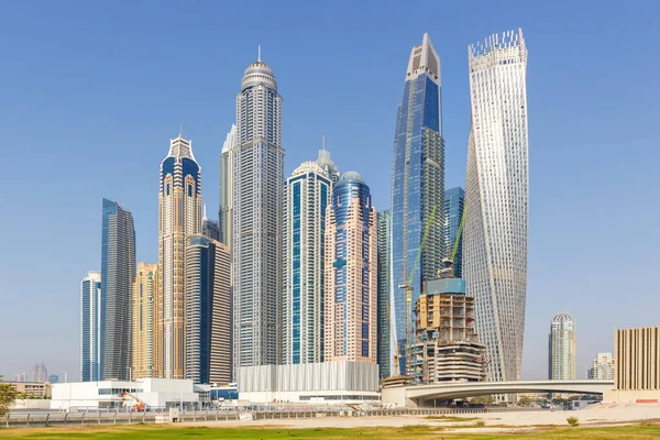
[[[191,407],[199,403],[193,381],[139,378],[136,381],[68,382],[53,384],[51,409],[97,410],[133,408],[143,403],[146,409],[174,406]]]

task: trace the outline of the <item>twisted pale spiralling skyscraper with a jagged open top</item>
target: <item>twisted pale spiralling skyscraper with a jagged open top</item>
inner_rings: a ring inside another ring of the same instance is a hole
[[[469,47],[472,127],[463,277],[486,345],[488,381],[517,381],[527,290],[527,47],[522,31]]]

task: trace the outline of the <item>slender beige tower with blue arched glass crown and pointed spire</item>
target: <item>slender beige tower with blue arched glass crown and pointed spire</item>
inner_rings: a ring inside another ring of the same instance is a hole
[[[182,134],[169,141],[169,153],[161,163],[158,196],[158,295],[155,359],[161,375],[184,377],[184,319],[186,246],[201,231],[201,168],[193,155],[193,143]]]

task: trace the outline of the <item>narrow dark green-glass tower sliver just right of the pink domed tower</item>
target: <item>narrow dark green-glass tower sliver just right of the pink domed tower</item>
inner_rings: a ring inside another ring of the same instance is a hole
[[[378,298],[377,298],[377,350],[381,377],[392,375],[392,328],[389,327],[389,273],[392,270],[392,215],[389,209],[378,212]]]

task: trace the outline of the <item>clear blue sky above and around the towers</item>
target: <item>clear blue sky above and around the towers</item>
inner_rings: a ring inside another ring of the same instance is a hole
[[[79,283],[100,270],[101,198],[157,261],[158,170],[183,123],[209,217],[244,69],[284,98],[286,175],[326,134],[340,170],[389,204],[411,46],[440,54],[447,187],[463,186],[468,45],[522,28],[529,50],[529,273],[522,375],[547,375],[551,318],[578,371],[617,327],[660,324],[660,6],[656,1],[4,1],[0,26],[0,374],[79,377]]]

